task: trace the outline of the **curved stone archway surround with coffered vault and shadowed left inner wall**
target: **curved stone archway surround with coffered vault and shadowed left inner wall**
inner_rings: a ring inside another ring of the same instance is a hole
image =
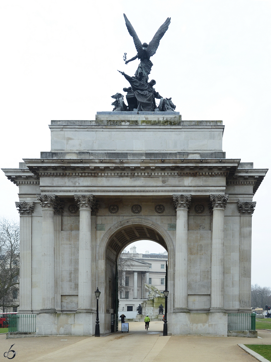
[[[113,332],[117,326],[118,286],[117,260],[121,252],[132,242],[152,240],[160,244],[168,252],[168,311],[173,308],[173,268],[174,248],[171,237],[159,224],[144,219],[128,219],[109,228],[101,240],[99,248],[99,273],[97,285],[100,285],[101,329],[104,333]],[[111,328],[115,325],[115,329]]]

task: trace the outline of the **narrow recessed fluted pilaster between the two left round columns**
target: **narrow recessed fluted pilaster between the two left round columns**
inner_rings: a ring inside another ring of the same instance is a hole
[[[56,200],[54,204],[55,222],[55,305],[56,312],[61,312],[61,216],[64,202]]]

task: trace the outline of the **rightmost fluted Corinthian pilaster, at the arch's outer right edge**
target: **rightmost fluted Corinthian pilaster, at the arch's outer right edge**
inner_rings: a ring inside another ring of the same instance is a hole
[[[240,212],[240,312],[251,310],[251,222],[255,206],[256,202],[238,202]]]

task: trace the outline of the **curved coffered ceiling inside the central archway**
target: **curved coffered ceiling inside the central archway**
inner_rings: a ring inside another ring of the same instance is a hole
[[[143,225],[129,225],[121,230],[118,230],[112,237],[110,238],[108,246],[119,254],[126,245],[132,243],[133,241],[138,240],[152,240],[159,243],[167,250],[167,245],[163,237],[153,228]]]

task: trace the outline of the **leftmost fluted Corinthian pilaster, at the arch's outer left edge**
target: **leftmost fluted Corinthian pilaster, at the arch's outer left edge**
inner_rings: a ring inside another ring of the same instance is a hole
[[[31,313],[31,218],[34,202],[15,202],[20,214],[20,313]]]

